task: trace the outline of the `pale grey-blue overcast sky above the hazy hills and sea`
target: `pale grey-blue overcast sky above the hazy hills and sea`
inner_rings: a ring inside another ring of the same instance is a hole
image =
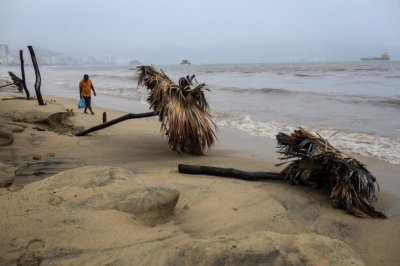
[[[0,0],[0,44],[144,63],[400,59],[400,0]]]

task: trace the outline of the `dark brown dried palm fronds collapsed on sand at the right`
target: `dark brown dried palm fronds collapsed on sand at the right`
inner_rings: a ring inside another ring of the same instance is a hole
[[[297,159],[282,170],[286,180],[300,185],[328,183],[335,207],[358,217],[386,218],[370,204],[379,186],[364,164],[303,128],[276,138],[278,152],[284,155],[281,160]]]

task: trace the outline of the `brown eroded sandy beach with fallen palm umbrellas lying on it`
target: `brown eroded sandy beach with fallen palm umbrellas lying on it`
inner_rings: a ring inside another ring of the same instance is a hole
[[[87,115],[76,100],[46,94],[45,106],[4,100],[16,96],[0,93],[0,130],[13,138],[0,146],[2,178],[13,176],[0,188],[1,265],[400,261],[398,165],[354,155],[377,177],[373,205],[388,216],[360,219],[318,189],[178,173],[179,163],[278,172],[267,138],[222,127],[205,156],[177,154],[157,117],[76,137],[103,112],[108,120],[125,113],[95,106]]]

